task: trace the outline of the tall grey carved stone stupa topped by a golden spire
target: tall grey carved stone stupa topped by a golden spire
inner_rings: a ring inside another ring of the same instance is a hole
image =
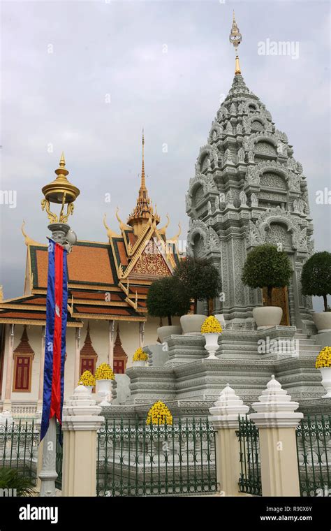
[[[283,308],[282,325],[313,331],[311,298],[302,296],[302,266],[314,252],[307,179],[293,156],[286,133],[279,131],[264,103],[247,87],[237,48],[242,36],[233,17],[235,78],[200,148],[189,183],[188,250],[219,269],[223,293],[214,312],[230,328],[254,328],[253,307],[265,293],[242,283],[247,253],[270,242],[284,249],[293,265],[288,289],[274,289]]]

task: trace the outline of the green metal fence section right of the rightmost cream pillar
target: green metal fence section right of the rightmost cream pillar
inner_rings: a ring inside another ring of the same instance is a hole
[[[331,415],[308,415],[296,436],[301,495],[331,496]]]

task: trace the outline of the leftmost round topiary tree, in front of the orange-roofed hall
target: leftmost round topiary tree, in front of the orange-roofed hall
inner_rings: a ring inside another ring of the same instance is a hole
[[[184,315],[189,311],[191,300],[182,288],[177,277],[163,277],[151,284],[147,293],[147,311],[152,317],[171,317]]]

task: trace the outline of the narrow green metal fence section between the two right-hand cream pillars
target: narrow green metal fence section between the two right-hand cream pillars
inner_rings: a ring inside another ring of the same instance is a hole
[[[260,474],[260,444],[258,427],[245,417],[239,417],[239,430],[237,437],[240,442],[240,478],[239,490],[262,496]]]

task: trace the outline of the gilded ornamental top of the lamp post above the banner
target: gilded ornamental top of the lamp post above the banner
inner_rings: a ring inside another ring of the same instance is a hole
[[[66,223],[70,214],[73,213],[73,202],[78,198],[80,190],[67,179],[69,172],[66,170],[64,153],[61,154],[59,168],[55,170],[55,173],[56,179],[42,189],[45,198],[41,201],[41,208],[46,210],[50,223]],[[50,203],[61,205],[59,216],[51,212]],[[64,205],[67,205],[66,212],[64,212]]]

